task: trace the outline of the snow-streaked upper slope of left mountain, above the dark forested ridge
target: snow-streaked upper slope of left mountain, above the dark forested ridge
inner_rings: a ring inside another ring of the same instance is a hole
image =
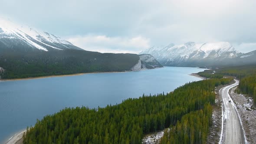
[[[0,50],[51,51],[80,49],[65,39],[30,26],[19,26],[0,18]],[[80,49],[82,50],[82,49]]]

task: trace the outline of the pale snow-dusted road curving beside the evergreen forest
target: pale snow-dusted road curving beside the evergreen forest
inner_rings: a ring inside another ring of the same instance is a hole
[[[239,80],[235,79],[235,81],[234,84],[220,89],[220,95],[223,101],[222,121],[224,125],[222,126],[219,144],[247,144],[240,115],[229,95],[230,89],[239,84]]]

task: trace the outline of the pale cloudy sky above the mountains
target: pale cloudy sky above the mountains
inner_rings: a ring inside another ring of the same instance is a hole
[[[189,41],[256,50],[256,0],[0,0],[0,6],[0,16],[90,51],[138,53]]]

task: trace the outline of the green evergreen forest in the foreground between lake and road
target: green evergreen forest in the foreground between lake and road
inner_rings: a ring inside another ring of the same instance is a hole
[[[190,129],[173,133],[174,140],[205,143],[214,88],[231,80],[187,83],[166,95],[143,95],[105,108],[65,108],[27,129],[23,144],[138,144],[145,134],[175,125],[180,130],[186,123]]]

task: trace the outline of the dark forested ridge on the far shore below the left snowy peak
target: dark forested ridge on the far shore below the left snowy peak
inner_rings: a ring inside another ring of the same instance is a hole
[[[131,70],[138,60],[136,54],[113,54],[85,50],[51,52],[1,52],[1,79],[17,79],[46,75],[85,72],[122,72]]]

